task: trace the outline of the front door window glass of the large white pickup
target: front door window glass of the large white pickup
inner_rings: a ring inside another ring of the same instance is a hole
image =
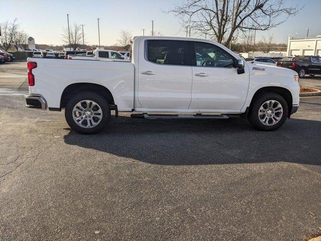
[[[219,47],[207,43],[195,43],[196,66],[231,68],[234,59]]]

